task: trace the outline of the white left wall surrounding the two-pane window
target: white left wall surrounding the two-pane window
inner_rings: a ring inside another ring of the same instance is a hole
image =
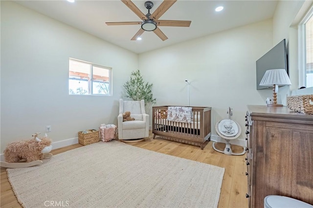
[[[46,125],[53,142],[116,125],[121,87],[138,68],[137,54],[12,1],[1,1],[0,52],[1,152]],[[69,96],[68,58],[112,67],[113,96]]]

